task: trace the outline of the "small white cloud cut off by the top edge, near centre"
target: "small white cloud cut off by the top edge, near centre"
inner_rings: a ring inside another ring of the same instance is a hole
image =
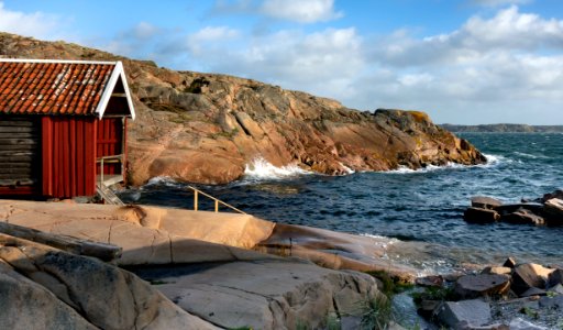
[[[338,19],[334,0],[265,0],[260,12],[276,19],[299,23],[314,23]]]

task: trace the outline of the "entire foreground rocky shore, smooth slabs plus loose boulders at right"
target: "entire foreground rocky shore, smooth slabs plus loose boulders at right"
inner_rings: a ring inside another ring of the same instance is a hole
[[[393,287],[407,288],[429,328],[563,322],[562,265],[509,258],[420,277],[421,270],[387,256],[415,242],[147,206],[0,200],[0,218],[57,242],[119,248],[110,248],[115,258],[108,263],[91,256],[108,255],[92,254],[96,249],[31,242],[0,226],[0,288],[8,297],[1,304],[12,304],[0,309],[0,323],[14,329],[40,329],[43,321],[76,329],[372,329],[374,320],[401,320],[393,311]],[[25,302],[29,295],[37,302]],[[53,299],[48,307],[41,302]],[[30,318],[38,314],[41,322],[14,318],[21,315],[14,306]]]

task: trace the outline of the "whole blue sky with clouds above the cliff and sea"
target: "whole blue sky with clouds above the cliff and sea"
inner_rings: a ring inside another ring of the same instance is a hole
[[[0,31],[438,123],[563,124],[561,0],[0,0]]]

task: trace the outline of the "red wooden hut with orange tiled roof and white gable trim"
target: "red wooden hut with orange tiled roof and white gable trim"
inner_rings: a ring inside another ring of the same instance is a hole
[[[93,196],[125,179],[121,62],[0,59],[0,196]]]

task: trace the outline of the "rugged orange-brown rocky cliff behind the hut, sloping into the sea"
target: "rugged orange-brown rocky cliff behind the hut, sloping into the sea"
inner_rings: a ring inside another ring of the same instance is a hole
[[[263,157],[323,174],[478,164],[468,142],[418,111],[347,109],[338,101],[224,75],[174,72],[63,42],[0,33],[0,54],[123,61],[137,120],[129,130],[130,178],[223,184]]]

